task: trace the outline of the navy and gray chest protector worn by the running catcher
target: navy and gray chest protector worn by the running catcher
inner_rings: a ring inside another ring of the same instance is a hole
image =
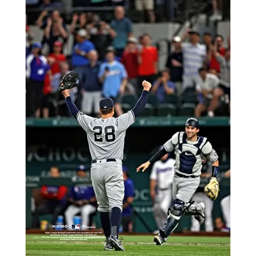
[[[202,168],[202,147],[207,138],[199,137],[195,144],[186,141],[186,133],[179,133],[179,143],[175,147],[176,165],[180,172],[191,174]]]

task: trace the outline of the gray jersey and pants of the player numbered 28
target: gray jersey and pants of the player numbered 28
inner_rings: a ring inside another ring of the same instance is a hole
[[[127,128],[134,124],[132,110],[118,118],[93,118],[77,113],[77,123],[87,133],[92,156],[91,176],[93,189],[99,204],[98,211],[109,212],[113,207],[122,211],[124,178],[122,159]]]

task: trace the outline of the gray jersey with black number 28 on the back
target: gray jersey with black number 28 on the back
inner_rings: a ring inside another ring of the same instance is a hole
[[[132,110],[118,118],[93,118],[77,113],[77,124],[87,133],[92,159],[123,159],[125,132],[134,124]]]

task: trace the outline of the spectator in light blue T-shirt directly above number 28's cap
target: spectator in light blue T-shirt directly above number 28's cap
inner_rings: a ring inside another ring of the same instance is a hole
[[[103,97],[111,97],[115,103],[116,115],[123,114],[121,105],[118,103],[119,96],[124,94],[127,86],[127,72],[122,63],[115,60],[115,49],[108,47],[106,50],[106,63],[100,65],[99,79],[103,84]]]

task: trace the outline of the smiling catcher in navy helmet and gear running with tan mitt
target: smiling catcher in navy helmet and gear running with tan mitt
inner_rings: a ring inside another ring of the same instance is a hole
[[[219,183],[216,179],[219,169],[218,155],[207,138],[197,136],[198,132],[198,120],[189,118],[185,124],[185,132],[175,133],[170,140],[164,143],[161,150],[137,168],[137,172],[141,168],[142,172],[144,172],[150,164],[155,163],[165,154],[174,151],[175,175],[172,189],[172,198],[174,200],[168,209],[168,217],[163,228],[154,237],[154,242],[157,245],[161,245],[167,240],[167,237],[179,224],[183,214],[194,215],[201,225],[204,223],[205,205],[203,203],[194,205],[193,202],[189,204],[191,197],[200,184],[202,161],[204,159],[212,163],[212,178],[209,184],[205,186],[205,195],[211,200],[215,200],[218,196]]]

